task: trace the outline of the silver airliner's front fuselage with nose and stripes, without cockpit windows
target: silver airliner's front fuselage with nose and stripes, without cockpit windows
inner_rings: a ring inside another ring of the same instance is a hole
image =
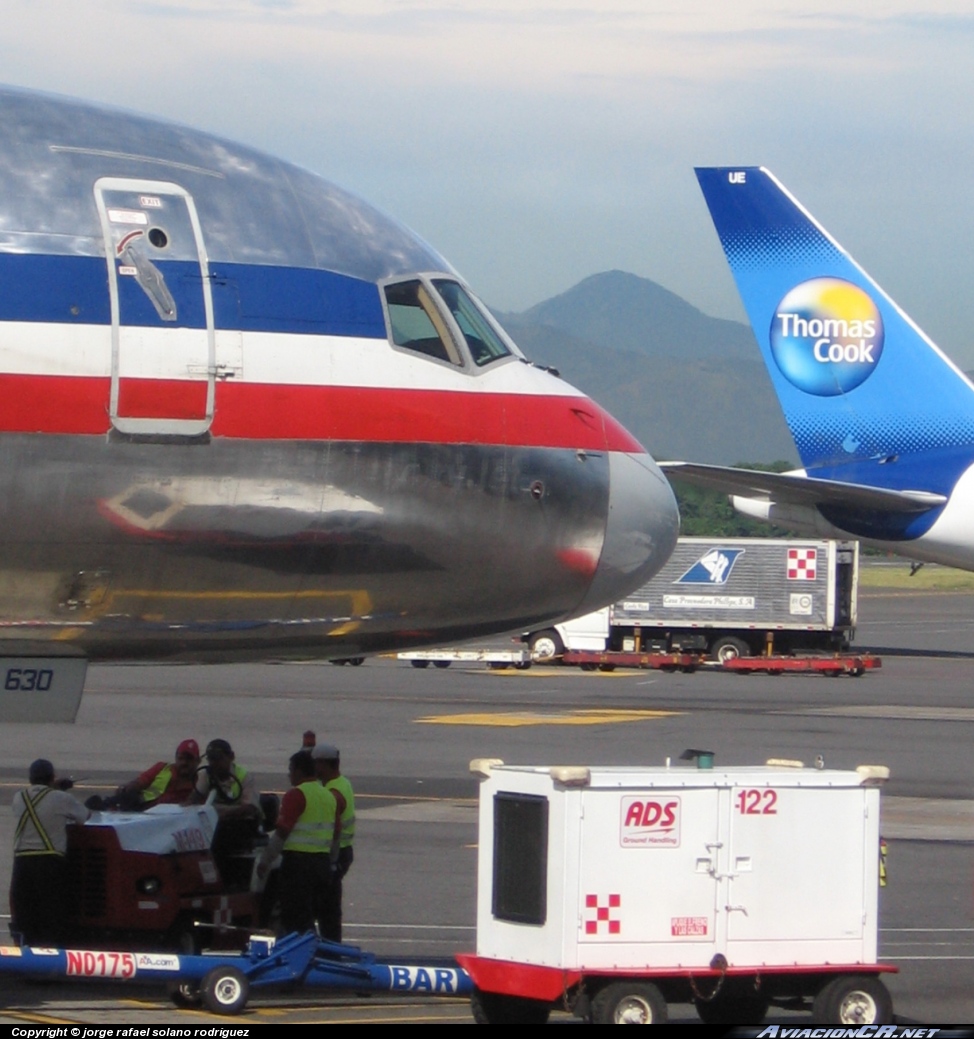
[[[389,343],[379,284],[420,271],[451,275],[304,170],[0,91],[0,652],[358,656],[662,565],[668,485],[601,409]]]

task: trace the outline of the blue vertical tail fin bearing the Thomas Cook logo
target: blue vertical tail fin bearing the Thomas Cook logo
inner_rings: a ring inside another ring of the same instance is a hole
[[[763,167],[696,177],[805,468],[970,461],[974,387],[845,249]]]

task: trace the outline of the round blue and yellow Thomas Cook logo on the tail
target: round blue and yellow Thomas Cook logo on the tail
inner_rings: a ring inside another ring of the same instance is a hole
[[[796,285],[771,320],[771,353],[799,390],[835,397],[854,390],[883,356],[883,317],[870,297],[838,277]]]

